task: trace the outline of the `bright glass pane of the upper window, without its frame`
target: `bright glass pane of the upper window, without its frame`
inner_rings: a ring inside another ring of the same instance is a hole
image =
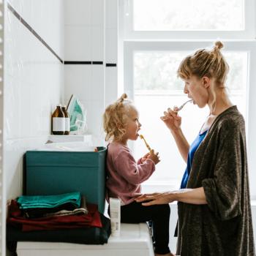
[[[133,29],[239,31],[244,29],[243,11],[244,0],[136,0]]]

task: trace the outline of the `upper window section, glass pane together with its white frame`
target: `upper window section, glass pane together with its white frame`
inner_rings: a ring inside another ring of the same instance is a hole
[[[125,39],[255,38],[254,0],[123,1]]]

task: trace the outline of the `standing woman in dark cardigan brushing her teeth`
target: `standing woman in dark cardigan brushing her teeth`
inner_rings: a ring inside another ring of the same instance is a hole
[[[181,189],[137,198],[144,206],[178,201],[177,255],[255,255],[244,118],[227,97],[222,46],[197,50],[178,68],[184,93],[210,110],[192,146],[175,111],[161,117],[187,162]]]

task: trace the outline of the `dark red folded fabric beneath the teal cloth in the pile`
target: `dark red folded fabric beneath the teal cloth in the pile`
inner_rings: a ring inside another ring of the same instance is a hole
[[[89,214],[28,219],[22,216],[17,201],[12,200],[9,207],[9,217],[7,222],[11,225],[21,226],[21,230],[23,231],[102,227],[99,211],[97,211],[97,205],[88,203],[87,208]]]

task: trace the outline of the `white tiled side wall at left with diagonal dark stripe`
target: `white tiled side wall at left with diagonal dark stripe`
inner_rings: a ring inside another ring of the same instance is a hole
[[[10,0],[5,13],[4,173],[7,199],[23,187],[23,154],[47,141],[64,94],[62,0]]]

